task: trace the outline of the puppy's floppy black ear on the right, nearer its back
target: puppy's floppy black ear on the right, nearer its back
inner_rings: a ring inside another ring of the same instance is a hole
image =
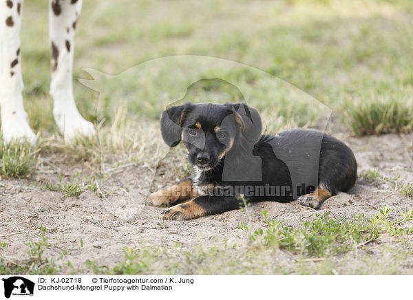
[[[233,110],[235,121],[240,125],[240,131],[246,141],[257,142],[262,131],[261,117],[257,109],[244,103],[225,103],[225,106]]]

